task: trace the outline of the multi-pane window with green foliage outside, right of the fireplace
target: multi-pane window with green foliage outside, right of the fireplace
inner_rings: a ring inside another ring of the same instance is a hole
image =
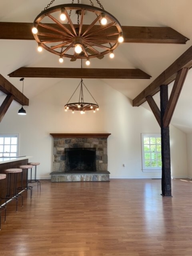
[[[161,134],[142,134],[142,170],[159,172],[162,169]]]

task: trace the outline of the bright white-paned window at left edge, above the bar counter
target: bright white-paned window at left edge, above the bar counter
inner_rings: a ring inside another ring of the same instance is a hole
[[[0,156],[18,156],[18,134],[0,134]]]

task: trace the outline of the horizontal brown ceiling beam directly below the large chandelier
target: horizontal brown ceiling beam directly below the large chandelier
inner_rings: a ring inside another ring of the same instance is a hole
[[[10,77],[46,78],[137,78],[149,79],[151,76],[140,69],[116,68],[26,68],[22,67],[8,74]]]

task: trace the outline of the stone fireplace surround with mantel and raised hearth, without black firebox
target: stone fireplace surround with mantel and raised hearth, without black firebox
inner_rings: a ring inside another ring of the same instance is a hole
[[[54,138],[52,182],[109,181],[107,138],[110,134],[50,134]],[[95,148],[96,172],[65,172],[66,148]]]

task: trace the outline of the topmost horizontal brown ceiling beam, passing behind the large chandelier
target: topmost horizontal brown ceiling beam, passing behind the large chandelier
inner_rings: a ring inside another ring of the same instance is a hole
[[[57,27],[56,24],[54,26]],[[34,40],[31,32],[32,27],[33,23],[0,22],[0,39]],[[82,29],[85,28],[86,25]],[[41,28],[41,32],[44,30]],[[114,28],[111,27],[106,32],[113,32],[113,30]],[[169,27],[122,26],[122,30],[125,43],[185,44],[189,40],[186,36]],[[49,38],[46,36],[46,39]]]

